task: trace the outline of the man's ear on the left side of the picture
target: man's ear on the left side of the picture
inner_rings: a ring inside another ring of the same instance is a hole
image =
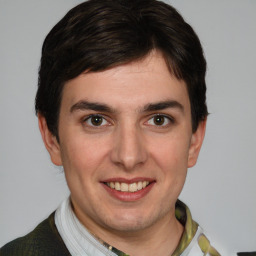
[[[38,125],[42,135],[42,139],[47,151],[50,154],[51,160],[55,165],[62,165],[60,145],[54,136],[48,129],[45,117],[38,113]]]

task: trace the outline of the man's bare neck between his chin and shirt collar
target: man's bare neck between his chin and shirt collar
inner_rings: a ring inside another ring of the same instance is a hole
[[[88,228],[88,227],[87,227]],[[122,232],[104,228],[94,230],[96,237],[131,256],[171,255],[179,244],[184,227],[175,214],[164,216],[157,223],[140,231]]]

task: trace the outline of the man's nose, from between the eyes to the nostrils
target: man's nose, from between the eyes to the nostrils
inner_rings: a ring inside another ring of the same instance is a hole
[[[114,134],[111,160],[126,171],[146,162],[148,157],[142,131],[136,125],[124,124]]]

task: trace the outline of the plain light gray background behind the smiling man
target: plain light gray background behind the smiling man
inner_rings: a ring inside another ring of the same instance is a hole
[[[0,246],[68,195],[38,131],[33,103],[41,45],[78,0],[0,0]],[[256,1],[171,0],[208,61],[211,115],[181,194],[223,255],[256,251]]]

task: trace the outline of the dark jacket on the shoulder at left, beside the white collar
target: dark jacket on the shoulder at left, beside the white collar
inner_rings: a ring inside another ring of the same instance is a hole
[[[54,213],[31,233],[0,249],[0,256],[69,256],[54,222]]]

